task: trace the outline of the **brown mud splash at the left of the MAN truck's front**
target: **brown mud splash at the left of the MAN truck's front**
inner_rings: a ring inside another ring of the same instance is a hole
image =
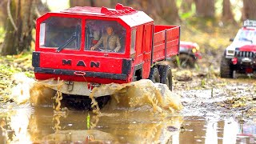
[[[10,99],[18,105],[30,102],[32,106],[39,106],[53,104],[55,100],[57,105],[54,109],[60,110],[62,93],[53,90],[52,87],[61,87],[62,81],[58,80],[56,85],[49,84],[53,79],[37,82],[33,78],[26,77],[24,73],[14,74],[12,80],[18,84],[12,88]]]

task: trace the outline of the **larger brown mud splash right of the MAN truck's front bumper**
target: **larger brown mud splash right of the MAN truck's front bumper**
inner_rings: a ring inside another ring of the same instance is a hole
[[[154,112],[162,113],[164,110],[174,112],[182,110],[180,96],[171,92],[168,87],[161,83],[154,83],[148,79],[142,79],[137,82],[126,84],[108,84],[94,88],[90,94],[93,99],[93,105],[97,109],[95,113],[99,113],[97,102],[94,100],[96,91],[109,90],[113,93],[110,106],[121,106],[129,108],[138,108],[142,106],[150,106]]]

